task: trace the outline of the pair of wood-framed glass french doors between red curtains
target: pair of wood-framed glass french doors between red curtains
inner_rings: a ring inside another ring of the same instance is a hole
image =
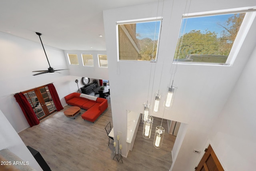
[[[56,111],[56,107],[47,86],[43,85],[41,87],[23,91],[22,93],[28,99],[28,102],[39,120]]]

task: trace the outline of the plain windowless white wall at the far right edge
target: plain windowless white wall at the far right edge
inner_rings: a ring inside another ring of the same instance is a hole
[[[255,57],[256,47],[209,136],[229,171],[255,170]]]

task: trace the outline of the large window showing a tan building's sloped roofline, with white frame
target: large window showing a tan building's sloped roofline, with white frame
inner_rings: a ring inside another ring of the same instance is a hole
[[[118,60],[157,60],[162,18],[117,22]]]

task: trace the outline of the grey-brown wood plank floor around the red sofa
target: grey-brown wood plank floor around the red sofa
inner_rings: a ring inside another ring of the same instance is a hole
[[[108,99],[108,98],[107,98]],[[69,105],[64,107],[68,109]],[[175,136],[164,135],[161,149],[153,145],[154,131],[160,125],[160,118],[154,117],[150,139],[142,136],[143,123],[140,123],[134,147],[123,163],[113,160],[114,147],[108,146],[105,126],[112,125],[111,104],[108,109],[91,123],[84,121],[81,114],[75,119],[66,117],[63,111],[55,112],[40,121],[39,125],[19,133],[26,145],[40,152],[52,171],[168,171],[172,164],[171,150]],[[81,110],[82,113],[84,110]],[[164,119],[162,126],[167,129]],[[167,130],[166,130],[167,131]],[[110,143],[113,143],[110,140]]]

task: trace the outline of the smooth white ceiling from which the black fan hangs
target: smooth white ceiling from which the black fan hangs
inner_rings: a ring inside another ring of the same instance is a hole
[[[103,10],[151,2],[158,0],[1,0],[0,32],[35,42],[40,32],[43,44],[62,50],[106,50]]]

